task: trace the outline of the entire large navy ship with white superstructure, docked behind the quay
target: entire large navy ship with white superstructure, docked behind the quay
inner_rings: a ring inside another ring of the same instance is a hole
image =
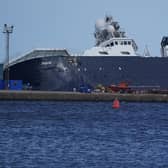
[[[168,38],[161,42],[160,57],[137,54],[135,41],[111,16],[97,20],[96,44],[81,55],[66,49],[34,49],[11,60],[11,80],[22,80],[32,90],[79,90],[123,81],[132,87],[168,89]]]

